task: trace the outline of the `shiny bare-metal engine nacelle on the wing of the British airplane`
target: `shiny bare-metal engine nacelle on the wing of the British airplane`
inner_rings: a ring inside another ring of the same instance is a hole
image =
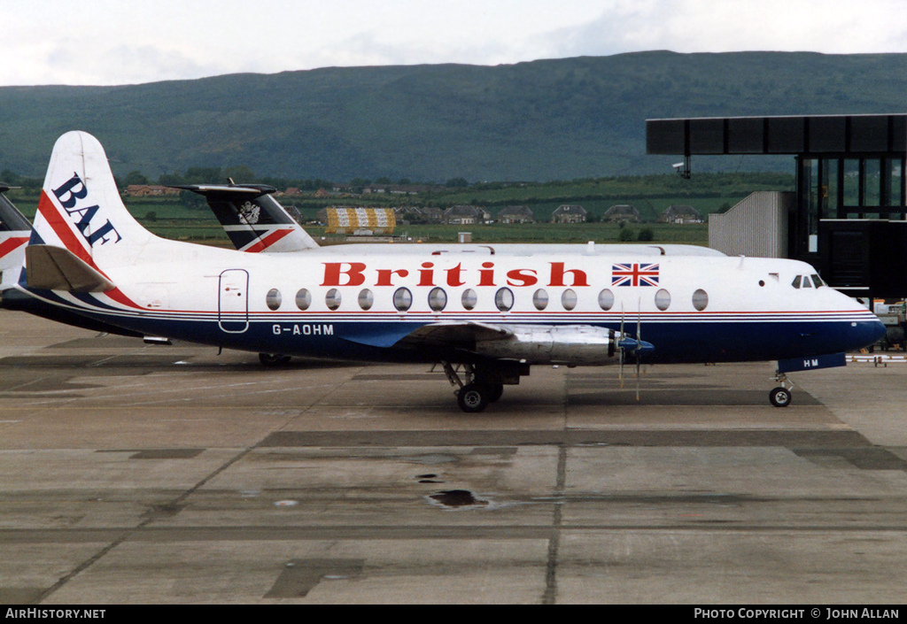
[[[597,366],[616,362],[619,333],[590,325],[507,326],[510,336],[477,340],[483,356],[525,360],[527,364]]]

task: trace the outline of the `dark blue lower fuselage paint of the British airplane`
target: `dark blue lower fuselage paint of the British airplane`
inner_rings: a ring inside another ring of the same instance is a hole
[[[337,321],[325,317],[310,322],[273,322],[251,320],[240,334],[221,330],[216,319],[166,320],[89,315],[99,320],[128,327],[146,335],[224,346],[239,350],[280,353],[288,356],[348,357],[352,359],[395,361],[412,358],[411,350],[396,348],[398,340],[424,322],[395,319]],[[564,323],[570,325],[570,323]],[[619,323],[591,323],[619,330]],[[636,324],[627,327],[630,335]],[[875,342],[884,335],[878,321],[739,321],[739,322],[643,322],[641,339],[655,346],[645,357],[650,364],[698,362],[743,362],[818,356],[853,351]],[[419,357],[438,359],[433,347]]]

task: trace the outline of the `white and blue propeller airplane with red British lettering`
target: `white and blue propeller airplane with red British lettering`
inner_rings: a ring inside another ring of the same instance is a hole
[[[769,398],[783,407],[787,373],[844,366],[845,352],[885,332],[805,262],[676,247],[244,253],[161,239],[123,206],[101,143],[67,132],[24,247],[24,279],[12,288],[146,336],[441,364],[467,413],[500,399],[533,365],[768,360],[778,361],[780,383]]]

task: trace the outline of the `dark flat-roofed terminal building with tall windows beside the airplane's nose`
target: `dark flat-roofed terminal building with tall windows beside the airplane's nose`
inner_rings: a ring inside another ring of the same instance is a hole
[[[805,260],[852,297],[907,295],[907,114],[648,120],[646,151],[683,157],[685,176],[693,156],[792,155],[795,191],[747,198],[727,239]]]

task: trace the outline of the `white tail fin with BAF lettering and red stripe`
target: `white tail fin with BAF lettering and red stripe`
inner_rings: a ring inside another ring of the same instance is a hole
[[[47,167],[30,244],[68,249],[99,270],[132,264],[157,240],[123,205],[101,143],[87,132],[63,134]]]

